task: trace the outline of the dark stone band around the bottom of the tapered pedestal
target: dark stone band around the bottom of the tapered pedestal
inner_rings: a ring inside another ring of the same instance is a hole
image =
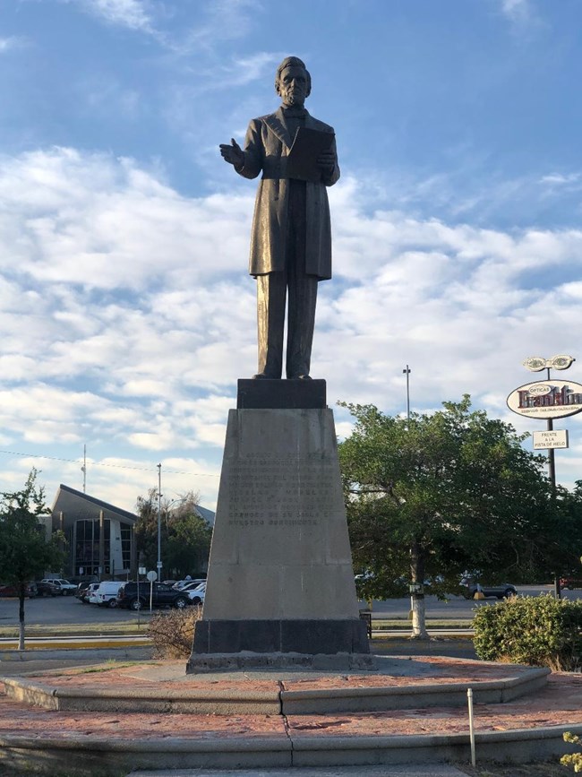
[[[364,621],[200,620],[194,630],[195,653],[369,653]]]

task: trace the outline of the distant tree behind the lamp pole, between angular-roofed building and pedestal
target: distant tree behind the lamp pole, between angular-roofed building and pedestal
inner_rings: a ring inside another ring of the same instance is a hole
[[[212,529],[196,510],[200,496],[189,491],[173,501],[162,499],[160,510],[161,558],[164,574],[185,577],[200,573],[208,562]],[[156,569],[158,561],[158,491],[137,500],[137,547],[143,563]]]

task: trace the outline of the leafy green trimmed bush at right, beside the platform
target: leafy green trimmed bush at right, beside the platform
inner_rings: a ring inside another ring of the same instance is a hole
[[[475,652],[483,660],[572,671],[582,654],[582,600],[514,597],[475,611]]]

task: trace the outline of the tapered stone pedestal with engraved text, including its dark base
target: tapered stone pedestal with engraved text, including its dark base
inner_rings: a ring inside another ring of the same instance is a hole
[[[264,405],[263,382],[253,383]],[[273,383],[296,397],[285,384],[306,382]],[[299,391],[309,396],[304,385]],[[332,412],[249,407],[248,395],[244,404],[228,415],[206,600],[187,671],[371,668]]]

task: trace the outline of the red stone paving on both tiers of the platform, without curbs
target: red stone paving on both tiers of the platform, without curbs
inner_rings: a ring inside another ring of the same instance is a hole
[[[415,659],[411,659],[415,660]],[[422,659],[424,662],[426,658]],[[285,680],[254,680],[252,673],[240,673],[234,681],[217,679],[217,675],[205,678],[201,675],[185,675],[181,686],[194,689],[252,689],[281,688],[297,690],[324,687],[364,687],[380,684],[398,686],[412,683],[425,685],[436,680],[442,683],[462,682],[474,684],[475,679],[515,677],[520,668],[507,664],[432,657],[432,676],[394,677],[378,675],[338,674],[318,678]],[[87,667],[61,669],[49,673],[27,675],[48,686],[86,686],[116,689],[127,686],[176,689],[171,680],[147,679],[152,666],[160,669],[184,667],[184,661],[153,662],[149,664],[115,667],[102,665],[99,671]],[[523,669],[521,669],[523,670]],[[283,673],[281,673],[283,674]],[[146,679],[144,679],[146,678]],[[381,682],[382,681],[382,682]],[[0,684],[0,687],[2,685]],[[544,726],[582,724],[582,675],[565,672],[553,673],[547,687],[507,704],[475,704],[475,730],[514,730]],[[237,738],[281,737],[291,731],[295,737],[333,736],[387,736],[396,734],[432,734],[466,732],[468,728],[466,708],[432,707],[429,709],[398,710],[393,712],[347,712],[321,715],[200,715],[187,713],[138,713],[138,712],[51,712],[15,703],[4,693],[0,694],[0,736],[21,735],[45,738],[66,738],[70,734],[88,738]]]

